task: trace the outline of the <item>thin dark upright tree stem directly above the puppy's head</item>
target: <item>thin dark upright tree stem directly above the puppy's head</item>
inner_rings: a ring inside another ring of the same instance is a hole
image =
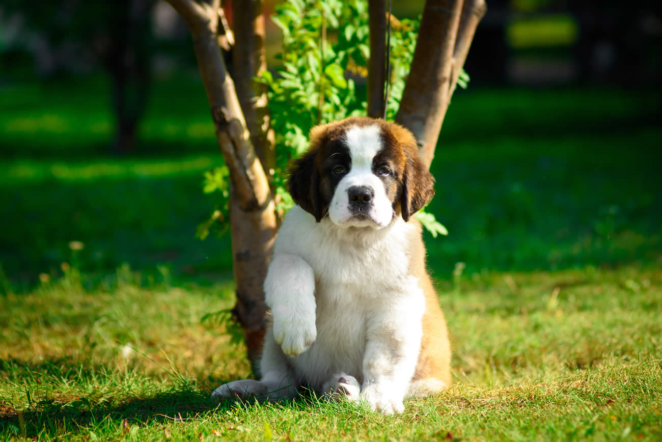
[[[386,0],[368,0],[370,60],[368,60],[368,116],[383,118],[386,83]]]

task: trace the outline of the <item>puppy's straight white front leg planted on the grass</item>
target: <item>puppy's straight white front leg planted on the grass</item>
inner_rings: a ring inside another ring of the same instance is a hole
[[[420,352],[424,302],[403,299],[401,305],[375,312],[367,322],[361,401],[384,414],[404,411],[404,395]],[[399,303],[400,304],[400,303]]]

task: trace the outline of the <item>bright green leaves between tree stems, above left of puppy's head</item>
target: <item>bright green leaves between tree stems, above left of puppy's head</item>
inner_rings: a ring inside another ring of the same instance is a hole
[[[284,185],[287,163],[308,148],[313,126],[365,114],[365,102],[359,101],[354,80],[345,73],[350,65],[365,69],[367,19],[367,3],[361,0],[297,0],[277,5],[271,20],[283,32],[283,48],[277,56],[282,67],[275,77],[263,71],[257,80],[269,88],[278,188]]]

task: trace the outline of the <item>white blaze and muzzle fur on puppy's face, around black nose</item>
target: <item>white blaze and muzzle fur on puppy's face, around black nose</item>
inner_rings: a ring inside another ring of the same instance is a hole
[[[352,167],[336,187],[329,206],[329,218],[338,226],[383,228],[393,220],[393,206],[381,179],[373,173],[373,158],[383,148],[379,126],[351,128],[345,135],[345,142],[352,157]],[[352,218],[348,195],[352,186],[373,189],[375,197],[367,214],[369,219]]]

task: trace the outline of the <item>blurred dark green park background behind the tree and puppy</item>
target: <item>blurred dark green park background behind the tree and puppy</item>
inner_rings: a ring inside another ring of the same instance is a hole
[[[488,1],[432,165],[429,210],[449,230],[426,234],[436,278],[662,265],[661,9]],[[270,69],[279,48],[267,21]],[[229,235],[195,238],[217,204],[203,173],[220,164],[191,38],[166,2],[0,5],[3,290],[70,265],[230,279]]]

